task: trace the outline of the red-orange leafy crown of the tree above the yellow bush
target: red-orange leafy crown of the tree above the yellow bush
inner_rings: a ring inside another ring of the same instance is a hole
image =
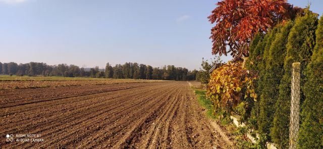
[[[231,53],[235,59],[249,56],[249,43],[256,32],[267,32],[302,11],[286,0],[223,0],[217,5],[208,17],[216,23],[210,36],[212,54]]]

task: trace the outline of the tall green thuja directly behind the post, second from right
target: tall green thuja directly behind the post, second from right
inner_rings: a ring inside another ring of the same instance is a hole
[[[306,65],[310,62],[315,45],[315,30],[317,17],[307,10],[305,16],[297,17],[291,29],[286,45],[287,53],[284,60],[284,76],[279,86],[279,96],[276,102],[274,124],[271,138],[279,148],[288,148],[290,122],[290,92],[292,63],[301,63],[301,88],[303,86]],[[302,94],[302,90],[301,90]],[[301,95],[302,96],[302,95]]]

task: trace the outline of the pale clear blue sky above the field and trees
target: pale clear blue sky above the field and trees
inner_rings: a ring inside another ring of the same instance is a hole
[[[212,57],[207,16],[217,2],[0,0],[0,62],[199,69],[202,57]],[[289,3],[307,6],[305,0]],[[311,1],[319,15],[322,6]]]

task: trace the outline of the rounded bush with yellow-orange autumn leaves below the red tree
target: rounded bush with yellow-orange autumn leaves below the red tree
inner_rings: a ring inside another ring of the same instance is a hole
[[[241,62],[229,62],[211,73],[207,95],[214,109],[220,109],[230,114],[236,107],[247,100],[257,99],[254,90],[256,74],[243,69]],[[244,103],[248,106],[248,103]]]

